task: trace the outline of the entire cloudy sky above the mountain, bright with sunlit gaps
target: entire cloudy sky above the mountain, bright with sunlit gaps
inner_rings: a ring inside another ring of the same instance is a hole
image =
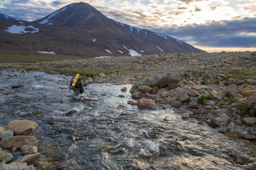
[[[32,21],[73,2],[208,52],[256,51],[255,0],[0,0],[0,13]]]

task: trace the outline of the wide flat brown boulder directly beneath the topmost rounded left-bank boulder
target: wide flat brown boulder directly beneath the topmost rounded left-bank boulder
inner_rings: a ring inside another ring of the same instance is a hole
[[[0,141],[0,147],[4,149],[20,149],[24,145],[37,146],[37,138],[35,136],[12,136],[11,138]]]

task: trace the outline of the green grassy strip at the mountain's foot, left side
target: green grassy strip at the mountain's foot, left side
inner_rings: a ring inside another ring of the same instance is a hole
[[[35,63],[47,61],[63,61],[64,59],[81,59],[84,57],[53,54],[0,54],[0,63]]]

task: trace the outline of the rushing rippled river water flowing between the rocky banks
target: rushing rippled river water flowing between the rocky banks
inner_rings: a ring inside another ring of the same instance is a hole
[[[39,151],[67,169],[256,168],[256,149],[248,141],[229,139],[195,119],[184,121],[171,108],[128,105],[132,85],[91,84],[75,96],[68,92],[70,79],[0,71],[0,125],[15,119],[37,122],[40,128],[32,135],[40,141]],[[12,89],[16,84],[24,86]],[[120,91],[124,86],[127,92]],[[172,121],[164,122],[165,116]]]

